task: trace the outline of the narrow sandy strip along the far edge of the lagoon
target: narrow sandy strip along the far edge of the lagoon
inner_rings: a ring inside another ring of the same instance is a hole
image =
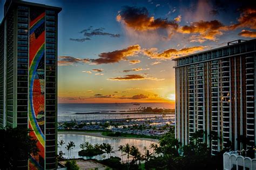
[[[158,139],[150,139],[150,138],[132,138],[132,137],[108,137],[105,135],[102,135],[102,132],[76,132],[76,131],[58,131],[58,134],[79,134],[79,135],[88,135],[92,137],[98,137],[98,138],[111,138],[111,139],[141,139],[141,140],[147,140],[151,142],[158,143]]]

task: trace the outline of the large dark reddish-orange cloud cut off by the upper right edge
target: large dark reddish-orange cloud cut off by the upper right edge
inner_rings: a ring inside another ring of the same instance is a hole
[[[256,29],[256,9],[246,8],[241,9],[238,23],[228,26],[229,29],[234,30],[237,28],[250,28]]]

